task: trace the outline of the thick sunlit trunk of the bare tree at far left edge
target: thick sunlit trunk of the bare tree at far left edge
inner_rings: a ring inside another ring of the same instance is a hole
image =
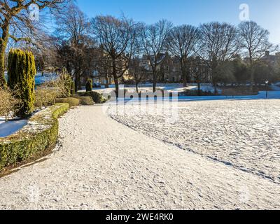
[[[5,79],[5,52],[9,38],[9,25],[3,25],[2,36],[0,38],[0,87],[6,87]]]

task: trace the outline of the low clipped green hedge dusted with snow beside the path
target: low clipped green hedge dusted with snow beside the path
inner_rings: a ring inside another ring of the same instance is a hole
[[[50,106],[32,116],[22,130],[0,138],[0,172],[55,148],[59,126],[57,118],[68,109],[69,104]]]

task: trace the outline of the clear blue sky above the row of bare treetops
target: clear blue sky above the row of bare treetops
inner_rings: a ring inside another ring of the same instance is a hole
[[[247,3],[250,20],[268,29],[270,40],[280,43],[280,0],[76,0],[88,16],[124,13],[148,24],[167,19],[174,25],[198,26],[203,22],[220,21],[238,24],[239,6]]]

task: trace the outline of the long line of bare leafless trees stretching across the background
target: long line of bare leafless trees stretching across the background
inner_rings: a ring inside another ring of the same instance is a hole
[[[23,1],[0,3],[3,6],[0,8],[1,85],[5,85],[4,61],[9,38],[13,45],[20,44],[34,52],[37,70],[65,68],[73,77],[76,90],[82,87],[82,78],[90,78],[94,73],[107,80],[113,78],[117,94],[127,71],[133,75],[135,83],[141,83],[148,73],[142,63],[145,55],[155,92],[161,76],[160,55],[166,53],[179,60],[184,86],[190,82],[191,75],[200,83],[205,68],[211,73],[216,91],[219,83],[251,83],[253,87],[264,79],[279,78],[278,63],[261,60],[265,52],[273,52],[277,46],[269,43],[269,31],[252,21],[241,22],[238,26],[225,22],[208,22],[199,27],[174,26],[167,20],[146,25],[125,16],[88,18],[70,1],[24,2],[27,5],[23,5]],[[28,2],[51,9],[55,16],[52,34],[29,21],[25,15]],[[20,22],[28,32],[20,28]]]

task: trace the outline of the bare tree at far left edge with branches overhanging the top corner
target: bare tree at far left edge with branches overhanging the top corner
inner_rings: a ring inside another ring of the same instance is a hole
[[[5,86],[5,52],[10,38],[14,41],[29,41],[25,31],[34,31],[29,7],[36,4],[39,10],[58,8],[68,0],[1,0],[0,1],[0,85]],[[15,34],[15,31],[17,35]]]

